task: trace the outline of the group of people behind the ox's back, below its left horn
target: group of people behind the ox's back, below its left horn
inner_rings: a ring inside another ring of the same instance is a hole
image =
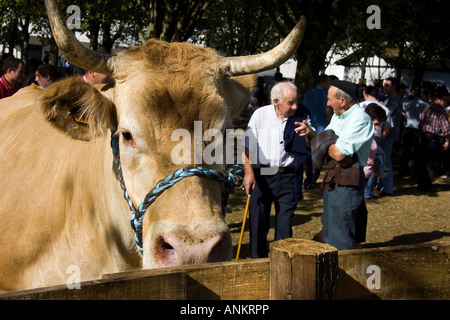
[[[65,76],[80,75],[90,84],[107,83],[109,76],[75,66],[57,68],[48,59],[31,58],[25,66],[24,61],[11,54],[4,54],[0,61],[0,99],[10,97],[19,89],[31,84],[47,88]]]

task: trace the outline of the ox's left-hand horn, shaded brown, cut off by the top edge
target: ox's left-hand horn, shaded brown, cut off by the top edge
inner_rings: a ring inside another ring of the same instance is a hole
[[[108,61],[112,63],[111,55],[85,48],[67,27],[55,0],[45,0],[45,6],[53,37],[67,61],[86,70],[111,75],[111,68],[108,67]]]

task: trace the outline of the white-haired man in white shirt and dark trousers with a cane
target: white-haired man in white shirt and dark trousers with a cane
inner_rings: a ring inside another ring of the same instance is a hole
[[[287,152],[285,128],[289,118],[311,121],[305,106],[297,103],[297,87],[290,82],[277,83],[271,90],[273,104],[258,108],[250,118],[242,144],[245,147],[244,188],[250,201],[250,251],[252,258],[268,255],[267,234],[270,210],[275,204],[275,240],[292,237],[292,220],[299,197],[296,194],[297,174],[302,175],[302,162],[307,156],[304,137],[299,143],[304,154]],[[293,129],[292,129],[293,130]],[[301,172],[300,172],[301,170]],[[298,191],[298,190],[297,190]]]

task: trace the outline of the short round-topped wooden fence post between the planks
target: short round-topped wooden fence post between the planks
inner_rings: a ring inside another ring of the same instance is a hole
[[[270,299],[337,299],[337,276],[335,247],[303,239],[270,245]]]

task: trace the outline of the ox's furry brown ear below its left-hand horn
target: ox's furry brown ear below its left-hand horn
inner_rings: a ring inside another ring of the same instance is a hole
[[[47,121],[74,139],[88,141],[117,128],[114,104],[81,77],[52,84],[39,106]]]

